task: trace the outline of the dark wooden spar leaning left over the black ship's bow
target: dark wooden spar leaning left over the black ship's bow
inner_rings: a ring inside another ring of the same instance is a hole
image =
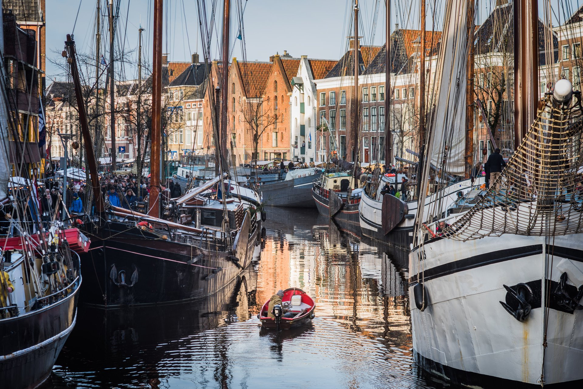
[[[101,189],[99,188],[99,174],[97,173],[97,162],[93,148],[93,140],[89,133],[89,125],[87,124],[87,111],[85,103],[83,102],[83,92],[81,90],[81,82],[79,81],[79,69],[77,68],[77,58],[75,51],[75,41],[71,35],[67,34],[65,41],[65,48],[69,56],[68,62],[71,65],[71,77],[73,79],[73,87],[75,89],[75,97],[77,99],[77,109],[79,110],[79,124],[81,126],[81,133],[83,135],[83,143],[85,143],[87,165],[91,174],[91,187],[93,189],[93,196],[95,199],[95,210],[98,215],[104,211],[103,199],[101,198]]]

